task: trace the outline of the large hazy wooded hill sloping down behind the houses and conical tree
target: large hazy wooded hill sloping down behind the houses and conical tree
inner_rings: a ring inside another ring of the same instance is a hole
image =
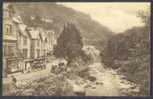
[[[11,3],[17,15],[28,26],[54,29],[60,33],[66,22],[73,21],[81,32],[83,43],[96,45],[113,34],[107,27],[82,12],[56,3]],[[35,19],[32,20],[32,17]],[[42,19],[49,20],[48,22]]]

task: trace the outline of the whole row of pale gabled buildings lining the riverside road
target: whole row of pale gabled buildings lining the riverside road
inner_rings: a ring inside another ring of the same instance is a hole
[[[3,12],[3,75],[25,71],[31,60],[53,52],[53,30],[25,25],[10,5]]]

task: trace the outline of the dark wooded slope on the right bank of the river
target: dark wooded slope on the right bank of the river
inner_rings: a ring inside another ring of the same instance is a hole
[[[133,27],[112,36],[101,53],[102,62],[118,69],[126,79],[140,85],[140,95],[149,95],[150,82],[150,24],[149,14],[140,12],[145,26]]]

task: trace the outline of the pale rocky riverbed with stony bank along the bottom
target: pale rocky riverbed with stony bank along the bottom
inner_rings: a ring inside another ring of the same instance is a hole
[[[22,79],[18,81],[18,86],[14,90],[15,95],[57,95],[58,91],[63,93],[60,95],[68,96],[78,95],[76,94],[78,92],[85,96],[124,96],[139,92],[138,86],[124,79],[125,77],[119,75],[117,71],[103,68],[101,63],[89,65],[89,75],[95,77],[95,81],[84,80],[78,76],[75,80],[61,81],[62,85],[59,89],[56,75],[49,71],[44,73],[45,76],[39,74],[39,78],[36,76],[34,78],[37,79],[34,80],[24,81],[24,77],[19,77]]]

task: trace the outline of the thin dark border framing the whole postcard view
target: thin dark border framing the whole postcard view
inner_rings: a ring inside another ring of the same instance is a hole
[[[0,33],[0,55],[1,55],[1,66],[0,66],[0,70],[1,70],[1,82],[0,82],[0,99],[78,99],[78,98],[81,98],[81,99],[84,99],[84,98],[91,98],[91,99],[153,99],[153,20],[152,20],[152,17],[153,17],[153,1],[152,0],[43,0],[43,2],[150,2],[151,3],[151,18],[150,18],[150,24],[151,24],[151,32],[150,32],[150,52],[151,52],[151,55],[150,55],[150,59],[151,59],[151,62],[150,62],[150,75],[151,75],[151,78],[150,78],[150,96],[143,96],[143,97],[129,97],[129,96],[122,96],[122,97],[104,97],[104,96],[100,96],[100,97],[97,97],[97,96],[94,96],[94,97],[89,97],[89,96],[85,96],[85,97],[81,97],[81,96],[77,96],[77,97],[69,97],[69,96],[2,96],[2,66],[3,66],[3,63],[2,63],[2,38],[3,38],[3,35],[2,35],[2,23],[3,23],[3,20],[2,20],[2,16],[3,16],[3,13],[2,13],[2,7],[3,7],[3,2],[42,2],[41,0],[4,0],[4,1],[0,1],[0,30],[1,30],[1,33]]]

